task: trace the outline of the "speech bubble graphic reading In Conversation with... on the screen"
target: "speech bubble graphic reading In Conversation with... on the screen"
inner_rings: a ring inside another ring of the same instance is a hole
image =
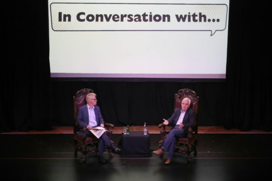
[[[226,4],[51,3],[53,31],[224,31]]]

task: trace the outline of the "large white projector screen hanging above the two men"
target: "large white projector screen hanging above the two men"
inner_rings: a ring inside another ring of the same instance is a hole
[[[226,78],[229,0],[48,0],[51,77]]]

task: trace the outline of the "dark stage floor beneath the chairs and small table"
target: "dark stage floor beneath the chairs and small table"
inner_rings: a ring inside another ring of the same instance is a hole
[[[117,144],[121,134],[114,134]],[[158,148],[159,134],[150,134],[150,151]],[[106,163],[81,153],[73,156],[72,134],[0,134],[2,181],[252,181],[267,180],[272,170],[272,134],[199,134],[197,156],[187,163],[174,154],[173,163],[152,155]]]

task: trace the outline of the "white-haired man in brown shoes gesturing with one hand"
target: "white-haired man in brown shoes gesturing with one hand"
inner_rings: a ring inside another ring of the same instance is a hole
[[[168,119],[163,119],[164,125],[173,126],[168,133],[164,144],[156,151],[153,151],[156,155],[163,155],[165,150],[168,150],[167,159],[164,164],[168,165],[172,162],[172,156],[175,149],[175,141],[178,137],[185,137],[188,132],[188,128],[194,125],[195,112],[190,108],[191,99],[185,97],[181,101],[181,108],[174,110],[173,115]]]

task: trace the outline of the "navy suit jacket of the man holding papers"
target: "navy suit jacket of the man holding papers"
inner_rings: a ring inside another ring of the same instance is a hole
[[[96,115],[97,126],[100,127],[101,124],[104,125],[104,120],[102,118],[99,107],[95,106],[94,111],[95,111],[95,115]],[[78,122],[78,125],[80,125],[82,127],[86,127],[86,128],[88,127],[89,113],[88,113],[87,105],[84,105],[84,106],[81,106],[78,108],[77,122]]]

